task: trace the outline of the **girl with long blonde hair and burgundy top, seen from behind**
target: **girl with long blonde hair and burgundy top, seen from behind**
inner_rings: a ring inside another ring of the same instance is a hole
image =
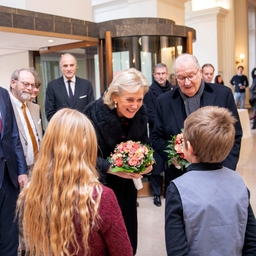
[[[72,109],[58,111],[17,204],[30,255],[132,255],[116,197],[98,181],[96,158],[88,118]]]

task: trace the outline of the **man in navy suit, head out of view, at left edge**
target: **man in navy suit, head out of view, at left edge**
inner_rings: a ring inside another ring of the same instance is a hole
[[[18,225],[15,219],[20,187],[27,185],[27,165],[12,104],[0,87],[0,255],[17,256]]]

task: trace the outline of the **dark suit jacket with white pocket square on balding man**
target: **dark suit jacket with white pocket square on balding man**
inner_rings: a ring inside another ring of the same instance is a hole
[[[63,76],[48,83],[45,95],[45,114],[48,121],[61,108],[72,108],[82,113],[88,103],[94,101],[93,88],[90,81],[76,76],[75,95],[70,104]]]

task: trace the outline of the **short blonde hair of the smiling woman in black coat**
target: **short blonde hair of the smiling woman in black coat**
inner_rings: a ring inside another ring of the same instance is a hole
[[[113,95],[120,96],[125,92],[135,93],[141,88],[143,89],[143,95],[149,90],[149,83],[145,76],[135,68],[126,69],[113,78],[108,90],[103,96],[103,102],[110,109],[114,109],[115,102],[112,97]]]

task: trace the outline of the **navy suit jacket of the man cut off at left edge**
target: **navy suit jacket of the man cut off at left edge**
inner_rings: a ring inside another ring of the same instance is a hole
[[[2,132],[0,137],[0,187],[2,187],[5,163],[12,183],[18,187],[18,176],[27,174],[18,127],[10,101],[9,93],[0,87],[0,112],[2,116]]]

